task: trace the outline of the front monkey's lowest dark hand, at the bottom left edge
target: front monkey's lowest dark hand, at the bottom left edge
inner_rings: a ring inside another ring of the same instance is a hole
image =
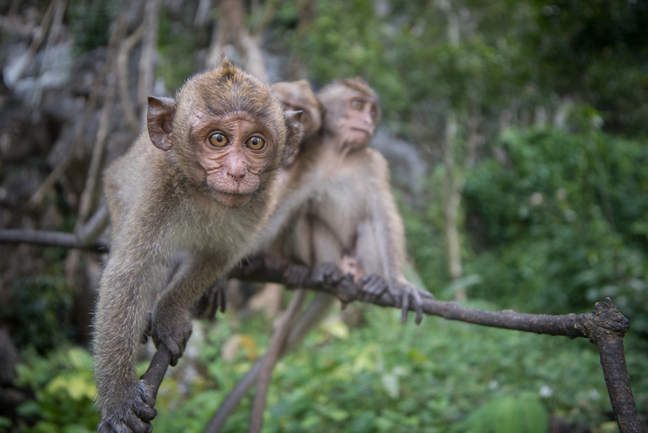
[[[111,401],[114,400],[114,401]],[[99,433],[151,433],[151,420],[157,415],[155,389],[144,381],[134,381],[118,397],[106,401],[97,426]]]

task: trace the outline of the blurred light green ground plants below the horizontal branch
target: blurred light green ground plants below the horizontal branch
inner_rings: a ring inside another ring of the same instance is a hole
[[[596,347],[585,340],[435,318],[418,327],[402,325],[399,311],[380,308],[368,308],[366,318],[367,326],[347,338],[319,328],[304,349],[281,360],[268,396],[264,432],[464,432],[471,430],[467,422],[479,418],[476,407],[510,396],[518,396],[516,405],[536,420],[537,430],[529,432],[546,430],[541,428],[546,413],[595,427],[611,410]],[[267,332],[254,331],[258,325],[242,324],[239,332],[267,342]],[[202,432],[219,402],[247,372],[249,359],[224,361],[210,353],[219,351],[215,343],[230,329],[222,321],[208,332],[201,347],[208,352],[201,355],[208,377],[194,381],[190,393],[178,394],[176,383],[165,379],[167,388],[157,403],[160,415],[153,421],[156,432]],[[645,364],[628,351],[631,374]],[[203,388],[214,379],[217,386]],[[638,383],[638,402],[645,401],[642,389]],[[242,401],[224,432],[245,431],[251,405],[252,395]],[[499,413],[504,418],[507,414],[502,404]]]

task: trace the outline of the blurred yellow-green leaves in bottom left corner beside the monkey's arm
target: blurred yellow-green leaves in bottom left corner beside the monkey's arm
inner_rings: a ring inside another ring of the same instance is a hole
[[[34,349],[23,351],[17,365],[17,385],[29,386],[36,400],[18,408],[22,418],[36,420],[25,433],[91,433],[99,422],[93,408],[95,386],[91,354],[75,347],[59,347],[44,358]]]

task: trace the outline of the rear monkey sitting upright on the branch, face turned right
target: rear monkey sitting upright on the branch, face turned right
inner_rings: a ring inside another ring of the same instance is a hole
[[[380,121],[378,97],[359,79],[339,79],[325,86],[318,100],[325,110],[322,130],[302,144],[261,243],[283,243],[284,257],[314,267],[321,278],[336,271],[337,267],[328,264],[341,265],[345,272],[353,273],[367,296],[380,296],[388,290],[399,298],[403,321],[413,303],[419,323],[421,297],[431,294],[419,291],[403,276],[405,236],[389,190],[387,162],[367,146]],[[298,284],[298,275],[290,278]],[[333,301],[330,295],[316,295],[291,328],[280,355],[300,344]],[[224,425],[262,365],[254,365],[226,397],[208,432]],[[259,422],[260,415],[253,409],[251,425],[255,417]]]

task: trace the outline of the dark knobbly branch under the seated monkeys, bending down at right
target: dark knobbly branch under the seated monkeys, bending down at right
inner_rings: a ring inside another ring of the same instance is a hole
[[[283,268],[269,268],[263,260],[252,260],[236,268],[230,277],[246,281],[277,282],[287,284]],[[401,308],[399,301],[387,291],[378,298],[368,298],[361,289],[346,278],[337,282],[317,282],[311,277],[300,283],[300,287],[337,296],[343,303],[353,301],[370,302],[381,307]],[[288,286],[288,288],[291,288]],[[294,287],[293,287],[294,288]],[[410,310],[413,310],[410,307]],[[423,299],[423,312],[448,320],[465,321],[472,324],[494,328],[514,329],[546,335],[563,335],[571,339],[588,338],[596,344],[601,356],[601,366],[612,409],[622,433],[643,432],[632,395],[630,379],[626,367],[623,337],[630,328],[624,317],[610,298],[596,303],[592,313],[565,314],[550,316],[545,314],[523,314],[513,310],[485,311],[463,307],[456,302]]]

